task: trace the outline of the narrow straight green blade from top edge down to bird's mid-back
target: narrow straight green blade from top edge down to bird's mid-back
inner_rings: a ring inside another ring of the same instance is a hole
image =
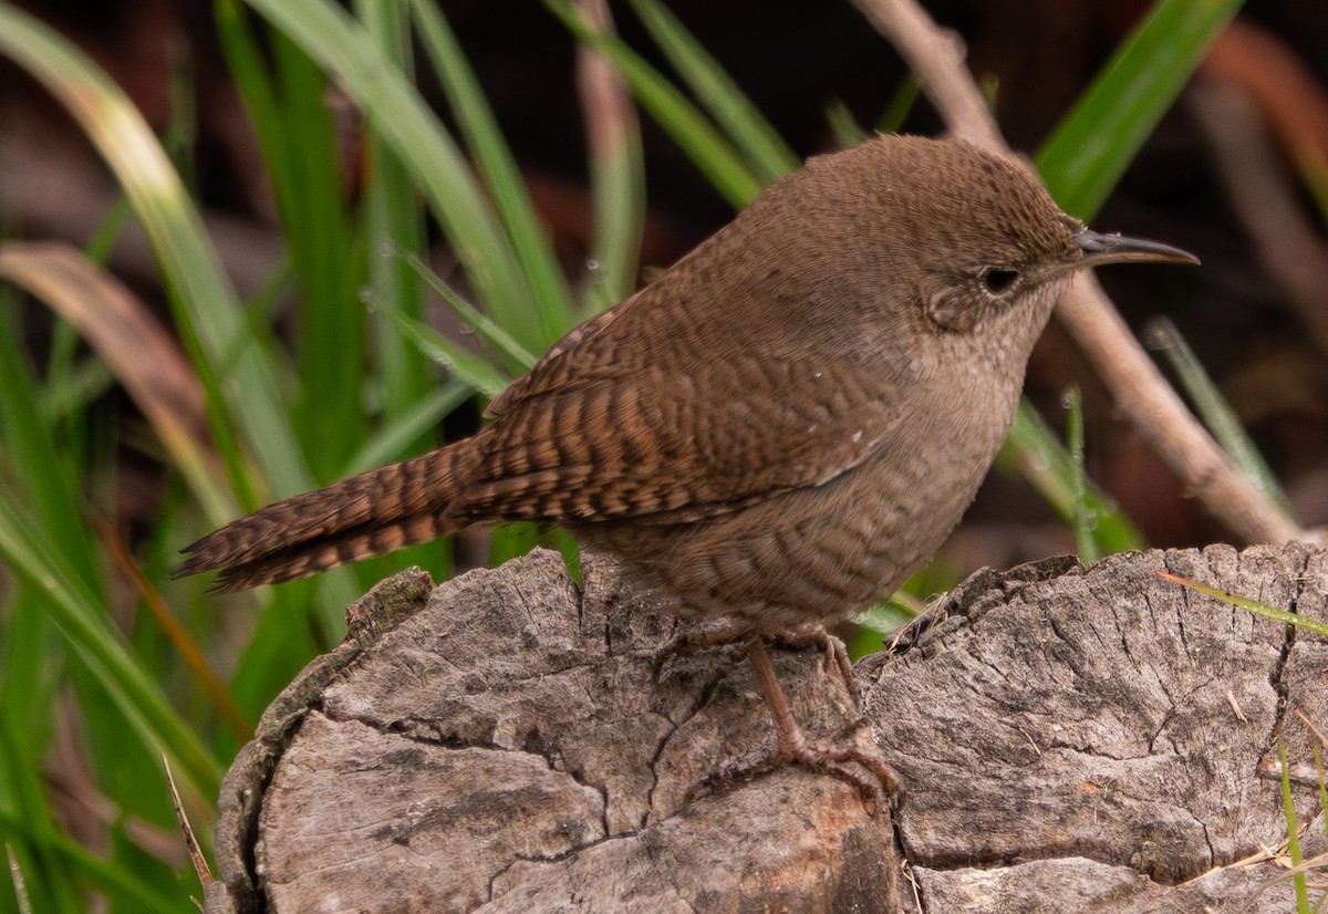
[[[485,177],[485,186],[507,228],[517,259],[534,287],[540,335],[522,333],[522,339],[527,345],[543,349],[576,323],[571,291],[535,214],[521,170],[498,130],[489,100],[466,62],[457,36],[433,0],[416,0],[412,9],[422,46],[433,61],[452,112]]]

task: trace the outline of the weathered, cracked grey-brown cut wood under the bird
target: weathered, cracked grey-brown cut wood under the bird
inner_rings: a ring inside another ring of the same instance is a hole
[[[1154,570],[1324,619],[1321,550],[973,575],[858,666],[858,739],[907,786],[874,817],[801,769],[684,802],[769,736],[753,675],[664,650],[679,623],[583,567],[405,573],[356,603],[227,775],[208,910],[1293,910],[1278,861],[1240,861],[1286,838],[1279,736],[1317,812],[1293,712],[1328,719],[1328,644]],[[815,652],[774,658],[809,731],[853,720]]]

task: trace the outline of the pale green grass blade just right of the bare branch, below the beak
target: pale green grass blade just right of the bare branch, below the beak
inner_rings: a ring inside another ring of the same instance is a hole
[[[1250,440],[1240,418],[1218,391],[1218,385],[1203,371],[1199,359],[1181,336],[1181,331],[1170,319],[1155,318],[1145,332],[1149,347],[1161,351],[1166,357],[1181,383],[1181,388],[1190,397],[1203,424],[1208,426],[1212,437],[1227,452],[1231,461],[1250,480],[1250,484],[1263,493],[1264,498],[1276,505],[1287,518],[1293,518],[1291,502],[1278,484],[1278,477],[1274,476],[1263,454]]]

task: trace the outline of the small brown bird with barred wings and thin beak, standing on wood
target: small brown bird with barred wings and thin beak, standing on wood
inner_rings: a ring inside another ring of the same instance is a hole
[[[473,437],[240,518],[179,574],[220,569],[238,590],[477,521],[560,523],[745,636],[777,723],[762,767],[861,786],[858,763],[894,792],[878,756],[806,741],[762,636],[862,610],[935,553],[1070,275],[1126,260],[1197,263],[1089,231],[960,142],[821,155],[568,332]]]

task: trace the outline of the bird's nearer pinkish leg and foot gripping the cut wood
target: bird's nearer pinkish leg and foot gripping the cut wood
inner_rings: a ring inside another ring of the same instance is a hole
[[[809,743],[798,721],[793,717],[789,699],[780,687],[780,680],[776,679],[774,666],[770,663],[770,655],[766,652],[761,636],[748,635],[742,648],[752,662],[761,693],[774,717],[774,747],[756,756],[736,760],[721,769],[709,782],[754,777],[791,763],[850,784],[872,810],[879,809],[882,798],[899,793],[899,778],[879,755],[863,752],[853,745],[831,747]],[[857,763],[872,777],[863,777],[849,763]]]

